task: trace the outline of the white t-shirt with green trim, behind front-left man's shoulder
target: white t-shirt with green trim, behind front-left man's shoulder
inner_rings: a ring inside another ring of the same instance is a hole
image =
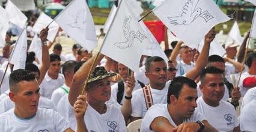
[[[55,91],[52,92],[52,98],[50,100],[52,100],[54,106],[58,105],[58,102],[61,99],[61,97],[63,97],[66,94],[69,94],[69,89],[69,86],[67,86],[64,83],[61,87],[55,89]]]

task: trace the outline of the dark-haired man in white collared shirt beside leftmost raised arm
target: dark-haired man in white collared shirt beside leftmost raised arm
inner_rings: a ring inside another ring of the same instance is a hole
[[[43,97],[51,98],[52,92],[65,83],[64,76],[59,74],[61,70],[61,58],[59,55],[50,54],[50,67],[40,85],[40,94]]]

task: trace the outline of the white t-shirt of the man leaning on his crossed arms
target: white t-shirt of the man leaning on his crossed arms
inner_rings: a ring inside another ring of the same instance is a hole
[[[173,125],[174,127],[177,127],[174,121],[172,121],[172,118],[169,115],[167,107],[168,107],[168,104],[154,104],[153,106],[151,106],[150,109],[148,109],[148,112],[146,113],[144,119],[142,119],[140,131],[141,132],[153,131],[153,130],[150,130],[150,125],[154,121],[154,118],[157,118],[159,116],[162,116],[168,119],[171,125]],[[184,119],[183,123],[204,121],[204,120],[206,120],[206,118],[203,115],[201,115],[200,112],[197,112],[197,110],[195,110],[195,113],[190,118]]]

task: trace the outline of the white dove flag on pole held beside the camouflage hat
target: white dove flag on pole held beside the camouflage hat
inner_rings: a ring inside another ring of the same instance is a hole
[[[100,52],[139,72],[142,52],[151,43],[146,35],[126,0],[121,1]]]

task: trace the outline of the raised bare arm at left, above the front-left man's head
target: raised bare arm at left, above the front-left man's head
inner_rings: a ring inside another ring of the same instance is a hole
[[[44,76],[47,73],[47,70],[50,66],[50,55],[49,55],[48,47],[44,45],[47,39],[48,31],[49,31],[49,28],[46,27],[43,30],[41,30],[39,35],[41,39],[41,45],[42,45],[42,64],[39,67],[39,71],[40,71],[40,77],[38,80],[39,85],[41,84],[41,82],[43,82]]]

